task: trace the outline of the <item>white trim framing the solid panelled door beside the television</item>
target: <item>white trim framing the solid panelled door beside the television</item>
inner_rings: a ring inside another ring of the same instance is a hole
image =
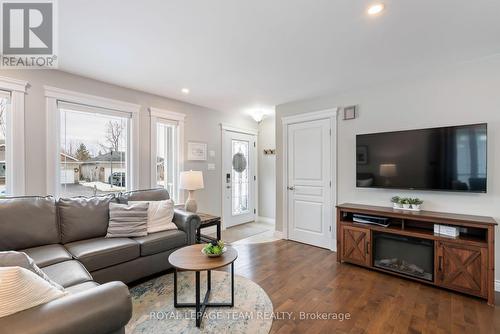
[[[316,121],[321,119],[330,120],[330,128],[332,130],[332,135],[330,136],[330,173],[332,180],[332,187],[330,188],[330,199],[332,201],[331,208],[331,232],[330,232],[330,250],[337,250],[336,238],[336,210],[337,205],[337,114],[339,108],[331,108],[313,112],[302,113],[298,115],[292,115],[283,117],[281,119],[282,126],[282,147],[283,147],[283,179],[282,179],[282,192],[283,192],[283,202],[282,202],[282,217],[283,217],[283,237],[289,239],[289,220],[288,220],[288,126],[296,123],[303,123],[309,121]]]

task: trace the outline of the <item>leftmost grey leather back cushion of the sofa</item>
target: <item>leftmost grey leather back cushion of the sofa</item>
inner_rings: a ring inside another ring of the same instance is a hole
[[[0,199],[0,251],[60,242],[53,197]]]

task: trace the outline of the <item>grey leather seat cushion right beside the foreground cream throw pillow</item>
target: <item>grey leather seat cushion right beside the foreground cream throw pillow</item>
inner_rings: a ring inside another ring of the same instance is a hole
[[[64,288],[92,281],[92,276],[78,261],[70,260],[44,267],[43,272]]]

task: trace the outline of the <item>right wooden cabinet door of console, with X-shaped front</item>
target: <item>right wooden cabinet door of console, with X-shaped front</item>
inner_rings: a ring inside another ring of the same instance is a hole
[[[476,296],[487,296],[487,248],[451,242],[436,243],[438,285]]]

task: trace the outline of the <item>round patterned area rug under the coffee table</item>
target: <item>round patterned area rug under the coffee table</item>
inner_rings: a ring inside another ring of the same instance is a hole
[[[249,333],[267,334],[272,326],[273,304],[255,282],[235,275],[233,308],[207,308],[201,327],[195,325],[194,308],[174,307],[174,275],[164,275],[130,289],[132,319],[126,333]],[[178,275],[179,303],[194,302],[194,273]],[[201,274],[201,298],[206,291],[206,273]],[[231,300],[231,276],[212,271],[210,302]]]

